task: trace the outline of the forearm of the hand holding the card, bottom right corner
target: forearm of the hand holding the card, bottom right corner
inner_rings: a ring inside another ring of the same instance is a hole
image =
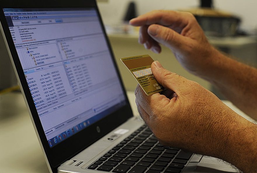
[[[242,117],[240,117],[242,118]],[[239,119],[240,119],[239,118]],[[257,172],[257,126],[244,118],[235,121],[220,158],[244,173]]]

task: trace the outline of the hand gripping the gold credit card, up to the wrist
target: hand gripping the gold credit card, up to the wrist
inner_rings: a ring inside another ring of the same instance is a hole
[[[238,116],[198,83],[152,63],[157,81],[167,90],[147,96],[136,88],[138,111],[157,139],[166,146],[222,158]],[[244,118],[243,118],[244,119]]]

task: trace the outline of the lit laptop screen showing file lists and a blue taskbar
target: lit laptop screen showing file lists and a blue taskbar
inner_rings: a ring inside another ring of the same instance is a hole
[[[93,8],[4,8],[50,147],[126,104]]]

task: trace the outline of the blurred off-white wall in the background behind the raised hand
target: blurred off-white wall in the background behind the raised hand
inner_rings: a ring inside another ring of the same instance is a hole
[[[154,9],[185,9],[197,7],[199,0],[109,0],[99,3],[103,20],[107,24],[119,23],[130,1],[135,1],[138,14],[144,14]],[[256,0],[214,0],[216,9],[229,11],[239,15],[242,19],[241,28],[253,31],[257,28],[257,1]]]

